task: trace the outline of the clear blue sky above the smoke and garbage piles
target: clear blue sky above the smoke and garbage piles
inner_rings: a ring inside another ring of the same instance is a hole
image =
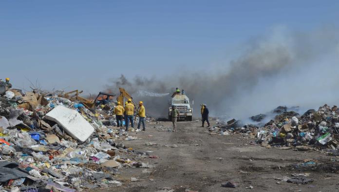
[[[93,93],[120,74],[226,64],[274,26],[337,25],[338,10],[337,0],[2,0],[0,78]]]

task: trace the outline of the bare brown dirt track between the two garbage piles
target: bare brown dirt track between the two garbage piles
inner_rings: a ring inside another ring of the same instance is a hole
[[[215,124],[215,122],[211,122]],[[136,140],[120,141],[138,151],[151,151],[159,158],[135,160],[149,162],[150,169],[122,168],[115,179],[123,185],[110,192],[333,192],[339,191],[339,163],[320,152],[267,149],[250,145],[251,139],[240,134],[211,135],[200,121],[178,122],[178,132],[167,132],[171,122],[147,124],[145,133],[131,133]],[[119,143],[119,142],[117,142]],[[157,145],[145,145],[157,143]],[[175,144],[177,148],[171,146]],[[304,159],[323,163],[312,168],[295,167]],[[313,183],[298,185],[275,178],[291,173],[310,173]],[[131,181],[131,177],[141,181]],[[236,188],[221,187],[233,181]],[[278,182],[278,183],[277,183]],[[279,184],[280,183],[280,184]],[[253,186],[253,189],[246,187]],[[100,190],[96,190],[100,191]]]

